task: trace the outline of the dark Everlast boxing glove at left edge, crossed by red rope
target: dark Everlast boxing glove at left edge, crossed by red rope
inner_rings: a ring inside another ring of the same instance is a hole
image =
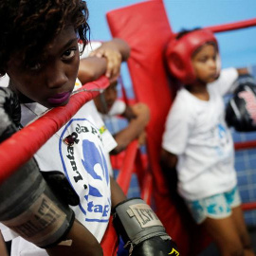
[[[17,131],[20,113],[15,94],[0,88],[0,141]],[[38,247],[62,243],[74,218],[74,211],[46,184],[34,158],[0,184],[0,221]]]

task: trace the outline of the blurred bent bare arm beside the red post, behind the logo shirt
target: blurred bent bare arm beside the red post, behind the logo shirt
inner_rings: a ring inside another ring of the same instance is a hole
[[[111,151],[112,155],[119,154],[136,138],[138,138],[140,145],[145,141],[144,130],[150,119],[148,106],[144,103],[127,106],[122,116],[129,120],[129,124],[114,135],[118,146]]]

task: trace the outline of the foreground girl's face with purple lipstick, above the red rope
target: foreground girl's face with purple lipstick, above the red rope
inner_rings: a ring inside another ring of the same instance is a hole
[[[7,73],[13,89],[51,108],[69,101],[78,74],[80,55],[74,27],[64,30],[46,47],[46,61],[26,67],[15,55]]]

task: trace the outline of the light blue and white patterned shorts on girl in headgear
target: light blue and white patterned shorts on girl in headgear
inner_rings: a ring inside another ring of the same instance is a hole
[[[231,209],[241,205],[241,198],[235,186],[229,192],[222,192],[186,204],[197,224],[201,224],[207,217],[223,219],[231,215]]]

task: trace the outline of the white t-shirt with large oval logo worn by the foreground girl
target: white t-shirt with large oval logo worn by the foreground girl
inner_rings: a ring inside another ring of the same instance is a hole
[[[22,124],[26,125],[46,108],[38,103],[22,105]],[[76,218],[101,242],[111,211],[109,152],[117,142],[104,127],[93,101],[82,106],[45,145],[35,158],[42,171],[61,171],[79,194],[81,203],[73,207]],[[101,132],[100,132],[101,131]],[[63,139],[75,135],[73,146]],[[15,237],[10,229],[1,226],[5,240]],[[35,247],[18,237],[12,241],[11,256],[47,255],[44,249]]]

